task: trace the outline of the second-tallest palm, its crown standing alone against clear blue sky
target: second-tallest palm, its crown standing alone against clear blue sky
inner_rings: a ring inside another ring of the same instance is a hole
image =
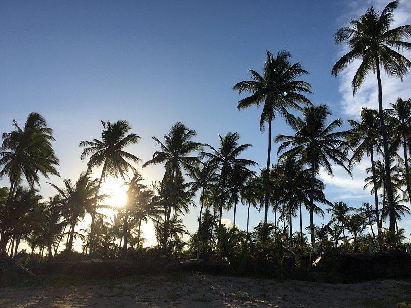
[[[238,102],[238,110],[252,105],[257,107],[263,104],[261,113],[260,131],[263,132],[265,123],[268,123],[268,153],[266,170],[270,170],[271,157],[271,124],[279,113],[283,119],[292,125],[288,109],[301,110],[298,103],[311,105],[309,99],[300,93],[311,93],[311,85],[308,82],[296,80],[301,75],[307,75],[300,63],[291,64],[291,54],[287,50],[281,50],[274,57],[268,50],[267,60],[263,66],[263,75],[249,69],[251,80],[241,81],[234,85],[233,90],[238,93],[252,92],[253,94]],[[264,222],[268,218],[269,199],[269,175],[265,175],[264,196]]]

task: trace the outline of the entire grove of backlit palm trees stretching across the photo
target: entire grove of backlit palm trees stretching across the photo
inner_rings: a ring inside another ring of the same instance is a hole
[[[347,42],[351,51],[335,64],[332,75],[360,59],[362,63],[353,79],[354,93],[369,71],[375,71],[378,80],[379,110],[364,108],[360,121],[347,121],[351,126],[348,131],[338,131],[343,121],[330,119],[327,106],[315,106],[304,96],[311,93],[311,85],[298,78],[308,72],[300,63],[290,63],[291,54],[286,50],[276,56],[267,51],[263,73],[250,69],[251,80],[234,85],[233,89],[239,93],[251,93],[238,102],[238,110],[261,106],[260,130],[268,125],[267,164],[259,172],[253,170],[258,166],[255,161],[241,157],[252,145],[241,144],[238,132],[219,136],[219,144],[214,147],[194,141],[195,130],[178,122],[164,135],[163,141],[153,137],[159,150],[142,167],[161,164],[165,172],[162,180],[145,185],[133,165],[141,160],[125,151],[127,146],[137,144],[140,136],[130,133],[127,121],[102,121],[101,139],[79,144],[85,148],[81,160],[89,158],[87,170],[75,183],[65,179],[64,187],[50,183],[57,195],[44,201],[35,188],[39,186],[39,176],[59,176],[56,169],[59,161],[51,145],[53,131],[38,113],[29,114],[23,128],[13,120],[15,130],[3,134],[0,152],[0,178],[7,176],[10,181],[10,188],[0,189],[1,256],[15,255],[20,240],[25,239],[33,252],[36,247],[47,249],[51,257],[64,242],[65,251],[71,252],[73,240],[78,237],[84,240],[85,253],[126,258],[130,247],[142,249],[141,226],[148,220],[155,226],[158,253],[180,256],[185,245],[183,236],[188,234],[181,215],[196,207],[197,194],[198,229],[189,241],[197,258],[212,254],[244,257],[249,249],[267,256],[267,249],[279,246],[307,252],[309,245],[302,225],[304,208],[310,217],[308,232],[315,253],[324,251],[330,242],[335,247],[341,243],[347,247],[350,242],[345,229],[352,236],[353,251],[359,250],[358,243],[365,238],[368,228],[373,241],[385,243],[389,248],[393,243],[397,245],[401,241],[388,241],[387,237],[403,235],[404,230],[396,225],[409,214],[405,202],[409,202],[411,191],[408,165],[411,100],[399,98],[390,109],[384,110],[379,70],[381,66],[389,75],[402,77],[411,68],[409,60],[391,49],[411,50],[411,44],[403,41],[411,36],[411,26],[390,29],[397,6],[398,1],[389,3],[380,15],[371,6],[360,21],[351,22],[351,28],[335,33],[335,41]],[[290,113],[291,109],[301,112],[301,116]],[[294,134],[272,137],[272,123],[277,115],[289,124]],[[279,143],[275,164],[271,163],[272,140]],[[333,205],[324,195],[320,172],[332,175],[333,166],[337,165],[351,175],[353,165],[365,156],[371,160],[371,176],[364,188],[372,187],[375,204],[364,205],[356,213],[343,202]],[[91,172],[99,167],[100,178],[92,179]],[[103,205],[108,196],[100,191],[108,176],[121,177],[127,185],[127,203],[115,209],[111,217],[100,210],[110,207]],[[24,181],[28,187],[23,186]],[[248,206],[245,232],[236,228],[240,203]],[[324,216],[319,204],[331,206],[328,211],[333,215],[331,222],[322,227],[314,223],[314,214]],[[264,220],[252,232],[249,232],[250,206],[264,209]],[[227,227],[222,217],[231,209],[233,225]],[[82,230],[86,234],[83,235],[76,228],[86,215],[91,216],[91,224]],[[300,230],[294,233],[292,221],[297,216]],[[385,230],[383,224],[387,219],[389,228]],[[233,249],[237,254],[233,255]],[[281,249],[277,253],[281,255]]]

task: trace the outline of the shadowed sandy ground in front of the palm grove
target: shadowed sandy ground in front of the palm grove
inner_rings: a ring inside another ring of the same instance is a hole
[[[410,281],[328,284],[198,274],[142,275],[80,287],[0,288],[0,307],[372,307],[411,300]],[[402,306],[401,306],[402,307]],[[408,305],[406,306],[408,307]]]

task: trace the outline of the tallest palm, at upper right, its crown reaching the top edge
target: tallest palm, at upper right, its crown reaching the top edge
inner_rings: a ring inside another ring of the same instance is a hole
[[[350,22],[351,27],[344,27],[335,32],[335,43],[346,42],[351,50],[335,63],[331,73],[332,76],[337,76],[354,60],[362,61],[352,80],[354,94],[369,72],[374,72],[377,75],[378,110],[384,146],[384,160],[387,164],[385,177],[387,179],[390,230],[394,230],[395,227],[394,196],[391,182],[389,181],[391,177],[389,165],[390,152],[383,114],[380,66],[389,76],[397,76],[400,79],[407,75],[411,69],[411,61],[397,52],[400,48],[408,51],[411,50],[411,43],[404,41],[406,37],[411,37],[411,25],[390,29],[394,21],[393,12],[398,7],[398,4],[399,0],[390,2],[380,15],[371,5],[367,12],[360,17],[359,21],[352,20]]]

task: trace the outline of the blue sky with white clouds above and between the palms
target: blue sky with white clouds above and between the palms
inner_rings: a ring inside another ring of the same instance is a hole
[[[386,1],[373,2],[378,10]],[[310,74],[309,96],[327,104],[332,118],[358,119],[360,108],[377,108],[376,80],[370,75],[356,97],[350,86],[355,67],[331,79],[335,61],[346,52],[333,33],[365,13],[371,2],[293,1],[4,1],[0,4],[0,131],[12,120],[24,123],[30,112],[41,113],[54,129],[54,148],[62,179],[76,180],[86,169],[80,141],[100,138],[100,120],[127,120],[142,137],[128,151],[143,161],[157,150],[170,127],[182,121],[197,131],[196,141],[218,146],[218,134],[238,131],[241,143],[253,147],[244,158],[265,165],[267,132],[259,131],[260,111],[238,112],[235,83],[249,79],[248,69],[261,71],[265,51],[288,49],[293,63]],[[403,0],[395,26],[411,23],[411,3]],[[385,106],[411,96],[409,77],[383,83]],[[345,127],[348,128],[348,127]],[[281,119],[275,134],[291,134]],[[276,145],[272,162],[276,161]],[[322,175],[326,197],[360,207],[372,198],[363,191],[365,158],[354,178],[335,169]],[[141,171],[141,166],[137,166]],[[95,171],[98,177],[100,170]],[[163,168],[142,170],[147,181],[161,180]],[[55,190],[42,181],[44,197]],[[7,179],[0,181],[7,185]],[[184,218],[195,229],[198,210]],[[307,215],[308,216],[308,215]],[[232,214],[225,214],[232,219]],[[251,225],[263,214],[252,213]],[[237,215],[245,228],[246,211]],[[321,223],[315,218],[315,223]],[[308,222],[306,223],[308,225]],[[402,225],[411,229],[409,217]],[[407,232],[407,234],[408,234]]]

